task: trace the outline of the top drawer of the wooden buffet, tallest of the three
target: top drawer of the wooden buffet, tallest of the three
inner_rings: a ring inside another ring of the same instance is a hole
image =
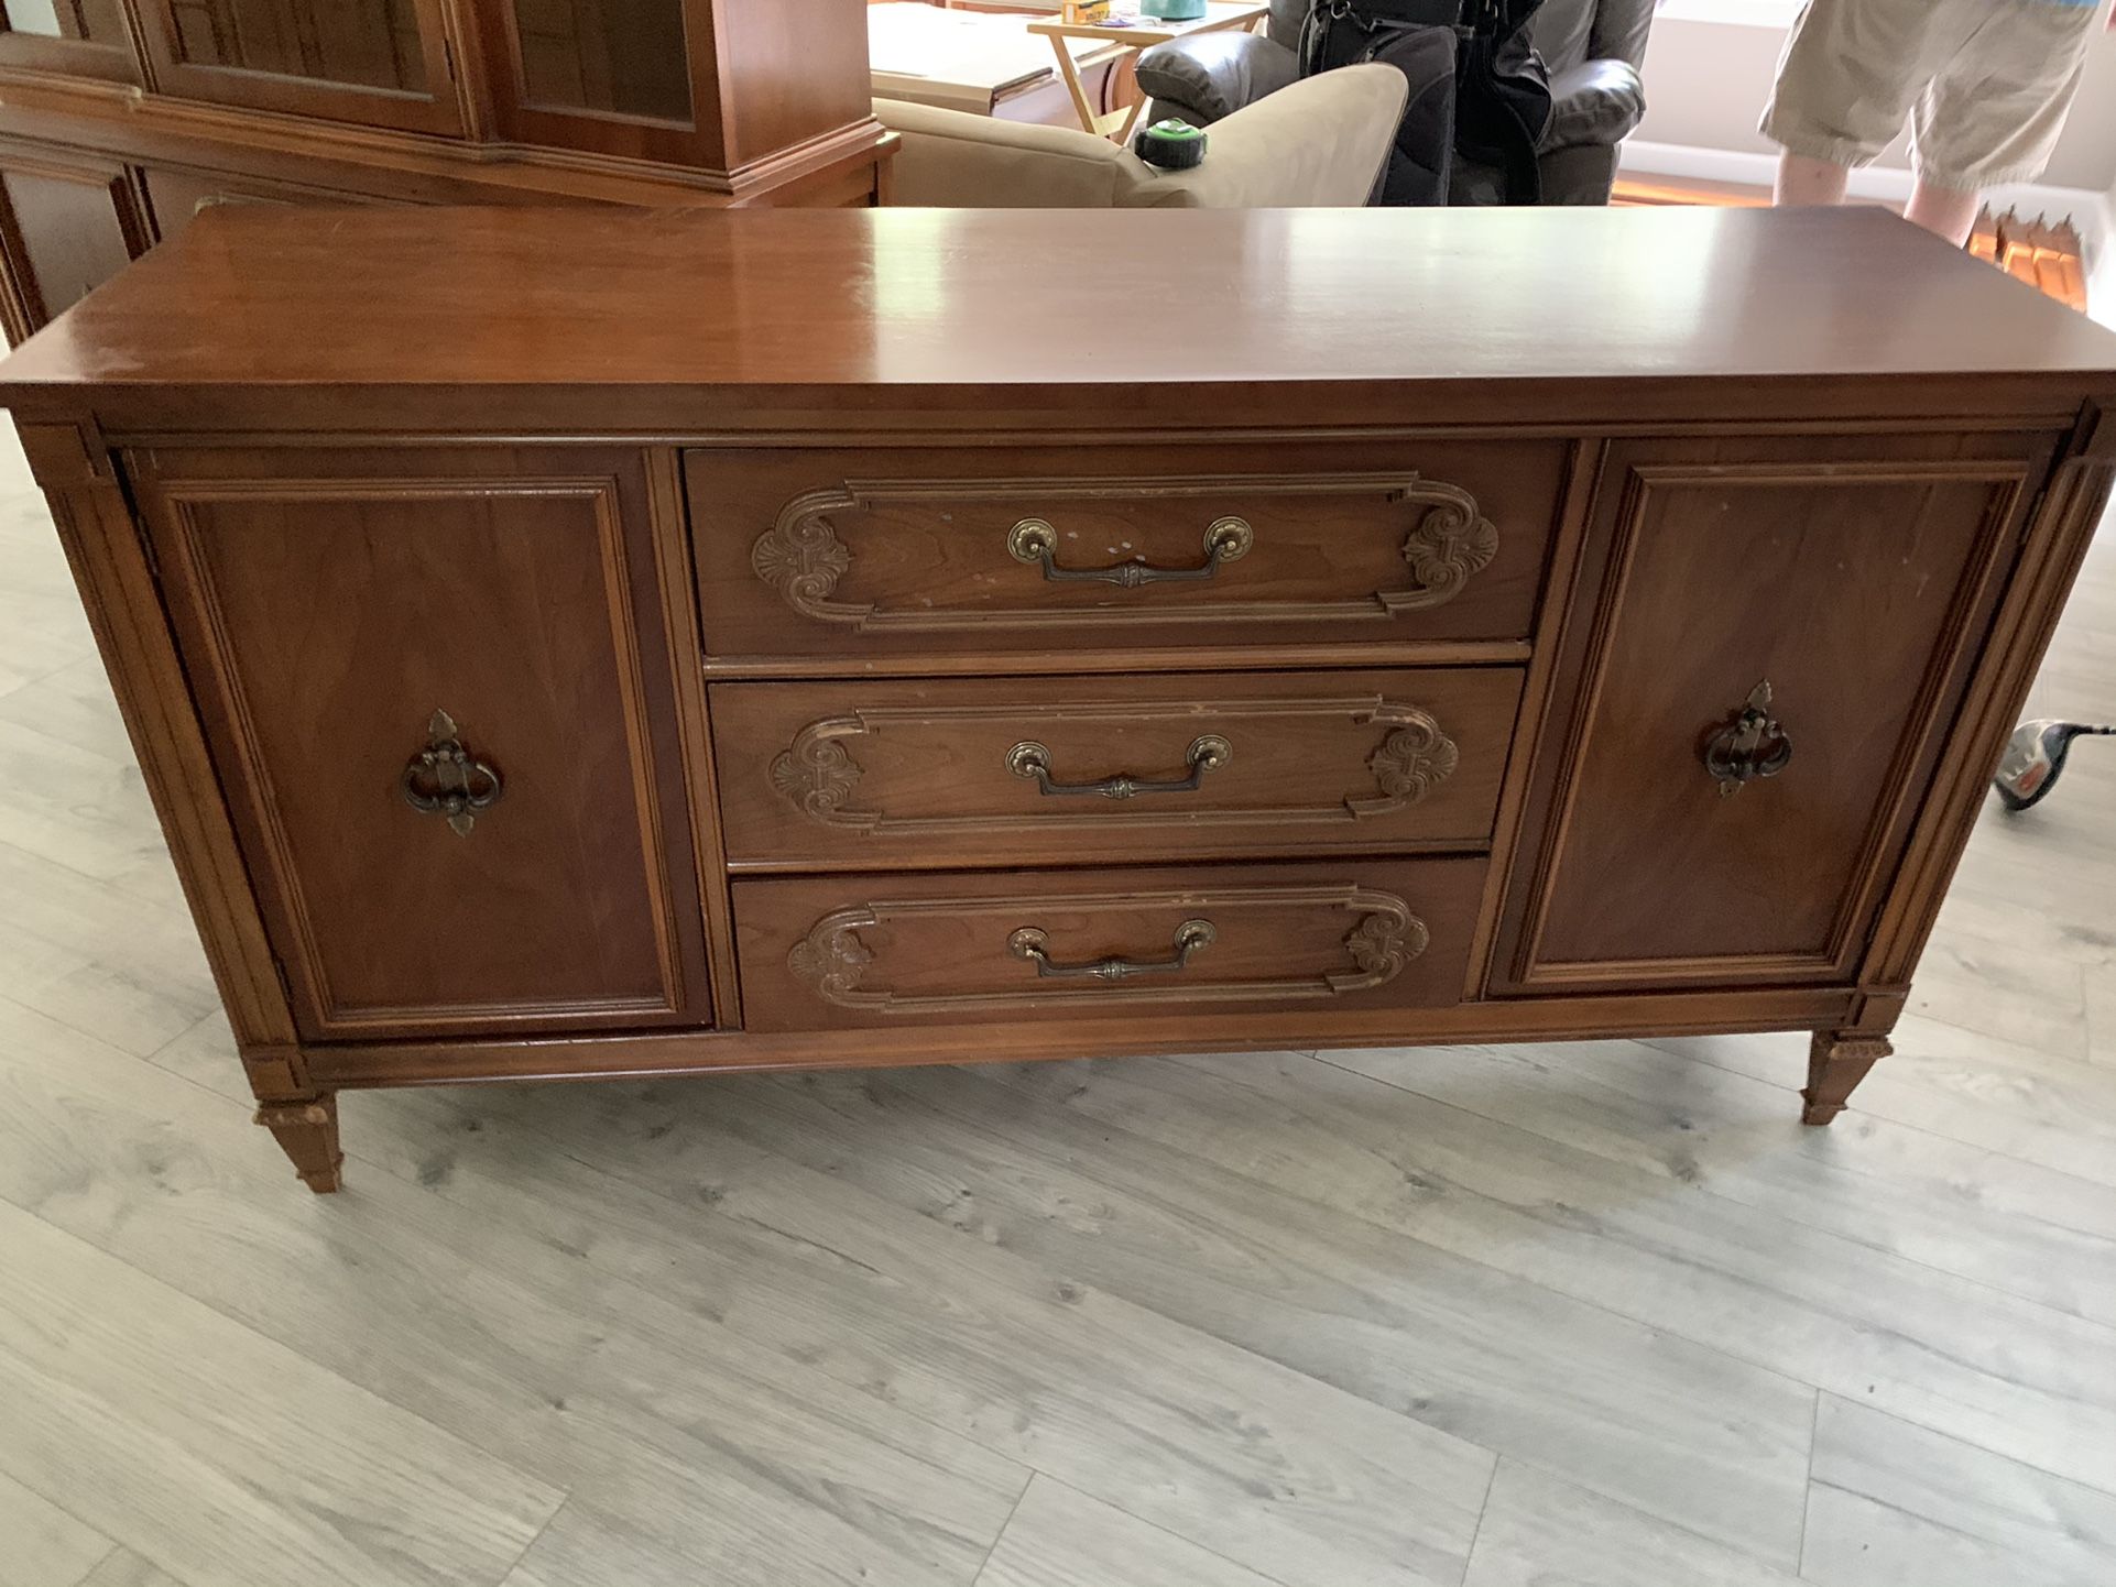
[[[692,451],[707,654],[1524,639],[1566,442]]]

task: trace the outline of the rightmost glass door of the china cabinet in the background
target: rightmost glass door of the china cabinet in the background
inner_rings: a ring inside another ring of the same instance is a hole
[[[504,138],[711,163],[686,0],[493,0],[480,15]]]

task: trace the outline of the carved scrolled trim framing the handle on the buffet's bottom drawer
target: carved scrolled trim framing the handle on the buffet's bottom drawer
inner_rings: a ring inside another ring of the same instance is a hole
[[[1030,925],[1050,906],[1077,910],[1168,910],[1210,916],[1215,910],[1314,906],[1356,916],[1342,937],[1344,967],[1312,975],[1253,982],[1047,982],[1033,965],[1022,967],[1020,990],[901,995],[863,982],[876,963],[859,933],[920,916],[950,916],[992,923],[995,946],[1007,933]],[[825,1003],[861,1014],[933,1014],[1028,1009],[1052,1003],[1225,1003],[1289,999],[1333,999],[1386,986],[1430,944],[1426,923],[1394,893],[1354,884],[1318,887],[1208,887],[1202,891],[1155,889],[1149,893],[1066,893],[1062,897],[923,897],[855,904],[817,920],[787,952],[787,969]]]

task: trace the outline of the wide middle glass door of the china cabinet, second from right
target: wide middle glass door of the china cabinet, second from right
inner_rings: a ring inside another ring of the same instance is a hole
[[[163,93],[404,131],[463,125],[440,0],[144,0],[140,21]]]

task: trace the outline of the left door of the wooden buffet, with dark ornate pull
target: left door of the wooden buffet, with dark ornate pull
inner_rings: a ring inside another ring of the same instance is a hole
[[[303,1035],[705,1020],[637,457],[133,470]]]

